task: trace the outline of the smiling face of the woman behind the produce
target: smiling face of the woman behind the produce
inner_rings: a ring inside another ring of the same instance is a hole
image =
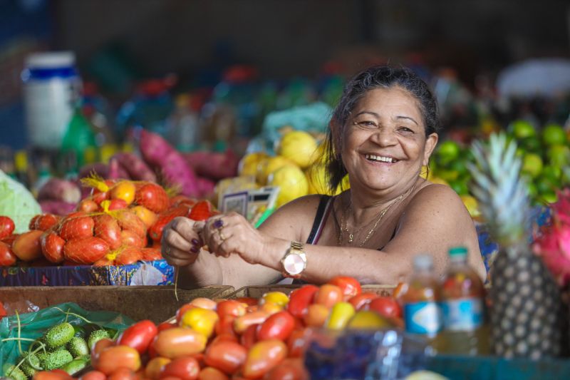
[[[403,191],[415,183],[436,143],[436,133],[425,137],[410,93],[398,87],[368,91],[348,118],[342,140],[351,187]]]

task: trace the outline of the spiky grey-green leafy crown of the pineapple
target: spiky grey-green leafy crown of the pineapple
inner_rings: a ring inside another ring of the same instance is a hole
[[[471,190],[489,234],[505,248],[526,242],[530,208],[527,184],[520,177],[517,143],[507,140],[504,133],[493,133],[488,145],[476,140],[471,150],[476,163],[467,164],[474,180]]]

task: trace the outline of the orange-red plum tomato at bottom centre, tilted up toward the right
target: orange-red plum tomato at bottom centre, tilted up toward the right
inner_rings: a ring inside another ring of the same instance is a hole
[[[261,379],[287,356],[287,347],[277,339],[257,342],[249,349],[243,374],[247,379]]]

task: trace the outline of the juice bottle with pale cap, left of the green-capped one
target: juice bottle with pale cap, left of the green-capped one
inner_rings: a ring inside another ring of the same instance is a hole
[[[440,283],[430,255],[417,255],[408,290],[402,296],[405,331],[432,339],[442,327]]]

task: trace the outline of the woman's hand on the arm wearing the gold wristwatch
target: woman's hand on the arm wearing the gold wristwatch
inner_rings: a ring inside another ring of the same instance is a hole
[[[209,252],[222,257],[237,254],[249,264],[263,264],[262,252],[266,252],[272,240],[276,240],[259,232],[237,212],[209,218],[202,237]]]

